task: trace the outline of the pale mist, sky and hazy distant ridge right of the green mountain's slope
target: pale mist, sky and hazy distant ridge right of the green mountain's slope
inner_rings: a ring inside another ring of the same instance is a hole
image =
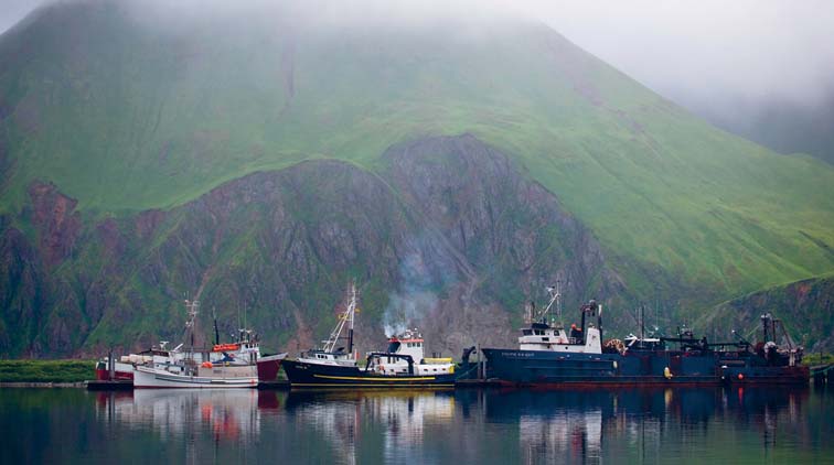
[[[568,39],[709,122],[832,160],[831,2],[522,2]]]

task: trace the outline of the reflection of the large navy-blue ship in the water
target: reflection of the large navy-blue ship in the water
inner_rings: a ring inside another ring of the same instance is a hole
[[[778,430],[784,435],[804,424],[808,397],[806,389],[764,388],[501,390],[487,391],[481,400],[488,421],[517,422],[523,463],[599,463],[612,454],[662,459],[663,448],[674,446],[682,432],[707,437],[715,423],[741,422],[761,433],[767,448],[776,444]]]

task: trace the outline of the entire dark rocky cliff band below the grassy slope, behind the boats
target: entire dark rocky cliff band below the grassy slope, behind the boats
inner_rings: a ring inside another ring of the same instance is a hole
[[[226,183],[167,212],[85,221],[55,186],[30,190],[32,234],[2,223],[0,353],[93,355],[178,340],[188,292],[204,334],[254,326],[266,346],[327,336],[351,280],[361,350],[419,325],[447,355],[513,344],[555,280],[567,312],[627,290],[594,237],[541,185],[471,136],[392,147],[370,173],[308,161]],[[567,313],[573,316],[573,313]]]

